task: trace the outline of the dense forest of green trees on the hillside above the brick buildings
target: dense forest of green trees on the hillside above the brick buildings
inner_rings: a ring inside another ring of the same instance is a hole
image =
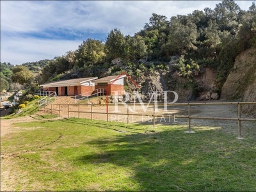
[[[133,36],[113,29],[106,42],[88,38],[77,50],[41,65],[42,72],[38,70],[40,76],[36,81],[54,81],[72,72],[79,72],[77,77],[95,76],[100,71],[115,74],[124,69],[111,63],[115,58],[121,58],[125,70],[136,75],[137,69],[168,69],[170,57],[178,56],[177,70],[181,76],[189,77],[199,67],[211,67],[217,71],[216,84],[220,88],[236,56],[253,46],[256,46],[255,3],[245,11],[234,1],[225,0],[213,10],[195,10],[170,19],[153,13],[144,28]],[[142,59],[146,62],[141,62]],[[6,74],[10,83],[8,70],[3,71],[2,65],[1,78]],[[33,66],[27,67],[35,70]]]

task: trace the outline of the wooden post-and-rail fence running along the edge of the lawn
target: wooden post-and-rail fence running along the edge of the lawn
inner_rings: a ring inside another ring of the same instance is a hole
[[[238,123],[238,137],[237,139],[243,139],[241,137],[241,121],[251,121],[251,122],[256,122],[256,118],[241,118],[241,105],[243,104],[256,104],[256,102],[200,102],[200,103],[173,103],[173,104],[148,104],[148,106],[152,106],[153,108],[153,113],[149,114],[152,116],[152,124],[153,127],[156,127],[156,118],[161,116],[161,117],[173,117],[173,118],[188,118],[188,127],[189,130],[185,131],[186,133],[194,133],[194,131],[191,131],[191,119],[201,119],[201,120],[237,120]],[[51,111],[58,111],[58,115],[61,116],[61,106],[67,106],[68,107],[68,118],[70,118],[70,113],[78,113],[78,118],[80,118],[80,113],[90,113],[90,118],[93,120],[93,114],[103,114],[107,115],[106,120],[109,122],[109,115],[126,115],[127,116],[127,124],[129,124],[129,116],[142,116],[145,114],[134,114],[130,113],[131,111],[129,110],[130,106],[140,106],[141,104],[125,104],[127,107],[126,113],[109,113],[109,106],[124,106],[122,104],[49,104],[51,105],[51,108],[47,108],[47,106],[44,106],[44,111],[45,109],[49,109]],[[58,109],[53,109],[52,106],[58,106]],[[191,115],[191,106],[200,106],[200,105],[237,105],[237,118],[226,118],[226,117],[207,117],[207,116],[192,116]],[[70,106],[78,106],[77,111],[72,111],[70,110]],[[90,106],[90,109],[88,111],[81,111],[81,106]],[[106,112],[96,112],[93,111],[93,106],[106,106]],[[147,106],[147,107],[148,107]],[[156,106],[188,106],[188,115],[164,115],[163,113],[161,114],[156,114]],[[148,115],[148,113],[147,113]],[[149,116],[148,115],[148,116]]]

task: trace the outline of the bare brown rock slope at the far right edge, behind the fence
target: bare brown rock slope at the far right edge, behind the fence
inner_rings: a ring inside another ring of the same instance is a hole
[[[256,49],[237,56],[234,68],[221,90],[221,99],[256,101]],[[243,112],[256,116],[256,105],[243,106]]]

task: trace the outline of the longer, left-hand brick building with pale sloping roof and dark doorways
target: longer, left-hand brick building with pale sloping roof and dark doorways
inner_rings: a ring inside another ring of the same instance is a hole
[[[94,80],[98,77],[68,79],[41,84],[43,91],[56,92],[58,96],[75,96],[79,94],[91,95],[95,90]]]

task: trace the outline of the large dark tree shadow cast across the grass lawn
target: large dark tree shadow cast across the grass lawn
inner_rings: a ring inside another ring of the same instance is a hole
[[[81,156],[76,164],[106,168],[113,164],[132,170],[130,179],[140,186],[136,191],[255,190],[255,140],[236,140],[219,129],[197,130],[196,134],[184,131],[176,128],[88,141],[84,145],[102,152]],[[122,183],[119,189],[134,190],[123,188]]]

